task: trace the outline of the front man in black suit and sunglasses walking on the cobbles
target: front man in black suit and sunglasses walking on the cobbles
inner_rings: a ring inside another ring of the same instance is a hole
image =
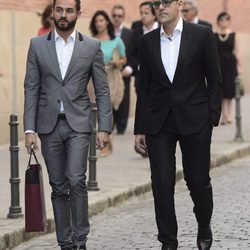
[[[186,23],[183,0],[153,1],[161,28],[142,36],[135,145],[148,151],[158,239],[177,249],[175,150],[179,142],[198,223],[197,245],[212,245],[210,144],[221,112],[221,75],[210,28]]]

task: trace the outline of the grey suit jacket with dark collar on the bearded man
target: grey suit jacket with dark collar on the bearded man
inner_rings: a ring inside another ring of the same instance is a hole
[[[92,76],[98,108],[98,130],[111,132],[112,109],[100,42],[77,32],[72,58],[62,79],[54,32],[31,39],[24,82],[24,130],[48,134],[56,126],[63,101],[71,128],[90,132],[87,84]]]

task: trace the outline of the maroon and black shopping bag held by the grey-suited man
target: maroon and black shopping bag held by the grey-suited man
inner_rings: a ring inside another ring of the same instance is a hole
[[[35,164],[31,164],[32,156]],[[25,231],[42,232],[45,231],[46,224],[42,167],[32,149],[25,171]]]

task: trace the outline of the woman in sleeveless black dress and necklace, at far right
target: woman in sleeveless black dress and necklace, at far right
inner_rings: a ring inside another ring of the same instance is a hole
[[[237,39],[235,32],[229,29],[230,19],[227,12],[220,13],[217,17],[219,30],[215,33],[223,80],[222,125],[233,120],[232,99],[235,97],[235,78],[238,75]]]

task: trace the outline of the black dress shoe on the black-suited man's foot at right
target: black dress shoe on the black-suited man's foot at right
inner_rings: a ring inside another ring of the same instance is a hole
[[[209,250],[212,246],[213,235],[211,227],[198,227],[197,246],[199,250]]]

